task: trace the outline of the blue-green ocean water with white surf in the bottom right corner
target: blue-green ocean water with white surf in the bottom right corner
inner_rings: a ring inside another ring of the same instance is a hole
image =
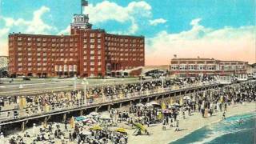
[[[242,124],[239,119],[242,118]],[[204,126],[170,144],[254,144],[256,142],[256,114],[243,114]]]

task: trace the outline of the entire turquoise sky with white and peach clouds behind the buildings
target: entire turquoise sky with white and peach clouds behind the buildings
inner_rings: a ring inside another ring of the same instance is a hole
[[[89,0],[93,28],[144,35],[146,65],[178,58],[256,61],[255,0]],[[80,0],[0,0],[0,55],[8,34],[69,34]]]

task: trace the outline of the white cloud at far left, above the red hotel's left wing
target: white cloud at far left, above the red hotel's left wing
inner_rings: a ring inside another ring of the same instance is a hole
[[[25,20],[23,18],[9,18],[0,15],[0,21],[4,22],[4,26],[0,29],[0,55],[7,55],[7,35],[10,33],[10,30],[15,28],[22,32],[28,34],[50,34],[53,31],[56,31],[57,28],[46,24],[42,20],[42,16],[50,11],[50,8],[46,6],[40,7],[38,10],[35,10],[33,13],[33,18],[30,20]]]

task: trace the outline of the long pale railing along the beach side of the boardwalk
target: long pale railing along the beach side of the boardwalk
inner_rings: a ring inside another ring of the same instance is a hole
[[[157,88],[154,90],[144,90],[141,92],[134,92],[130,94],[118,94],[103,96],[102,98],[91,98],[91,99],[81,99],[76,100],[66,100],[65,102],[55,103],[53,105],[45,106],[31,106],[23,109],[14,109],[14,110],[4,110],[0,111],[0,125],[8,124],[11,122],[22,122],[24,120],[33,119],[33,117],[38,116],[47,116],[53,114],[63,114],[68,111],[82,110],[86,108],[91,108],[95,106],[107,105],[111,103],[126,102],[136,98],[146,98],[150,95],[156,94],[168,94],[175,91],[182,90],[193,90],[197,88],[202,88],[205,86],[218,86],[217,82],[205,82],[197,83],[192,85],[180,86],[178,89],[171,89],[170,87],[166,88]]]

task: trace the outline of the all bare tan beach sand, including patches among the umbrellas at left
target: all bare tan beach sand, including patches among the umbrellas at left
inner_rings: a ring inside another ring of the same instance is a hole
[[[128,107],[122,107],[121,110],[127,110]],[[230,117],[236,114],[245,114],[250,113],[256,110],[256,103],[245,103],[245,104],[239,104],[239,105],[231,105],[227,107],[226,117]],[[149,130],[150,135],[139,135],[134,136],[134,130],[131,126],[126,125],[126,122],[118,123],[118,126],[111,126],[110,130],[115,130],[117,127],[124,127],[127,130],[128,133],[128,143],[130,144],[166,144],[173,142],[175,140],[178,140],[179,138],[182,138],[186,136],[187,134],[190,134],[194,130],[198,130],[199,128],[210,125],[214,122],[219,122],[222,120],[222,112],[215,112],[212,117],[209,118],[202,118],[202,114],[198,112],[192,113],[191,116],[188,116],[186,113],[186,119],[182,118],[182,115],[178,116],[179,119],[179,129],[180,131],[175,132],[175,127],[166,126],[166,130],[162,130],[162,123],[156,124],[154,126],[147,127],[147,130]],[[61,130],[64,130],[64,125],[61,123],[58,123],[61,126]],[[35,133],[39,133],[38,127],[35,130]],[[70,130],[70,126],[68,125],[68,129]],[[28,128],[26,131],[29,132],[29,134],[32,134],[32,128]],[[25,132],[18,131],[15,134],[24,135]],[[68,133],[66,132],[66,138],[68,138]],[[10,138],[11,135],[9,135]],[[24,138],[24,140],[28,143],[32,142],[33,138]],[[66,140],[68,141],[68,140]],[[5,138],[5,141],[3,143],[7,142],[7,138]],[[37,142],[41,143],[41,142]],[[56,143],[61,143],[60,140],[57,140]],[[69,144],[73,144],[76,142],[67,142]],[[109,142],[111,143],[111,142]],[[2,142],[0,142],[2,144]]]

